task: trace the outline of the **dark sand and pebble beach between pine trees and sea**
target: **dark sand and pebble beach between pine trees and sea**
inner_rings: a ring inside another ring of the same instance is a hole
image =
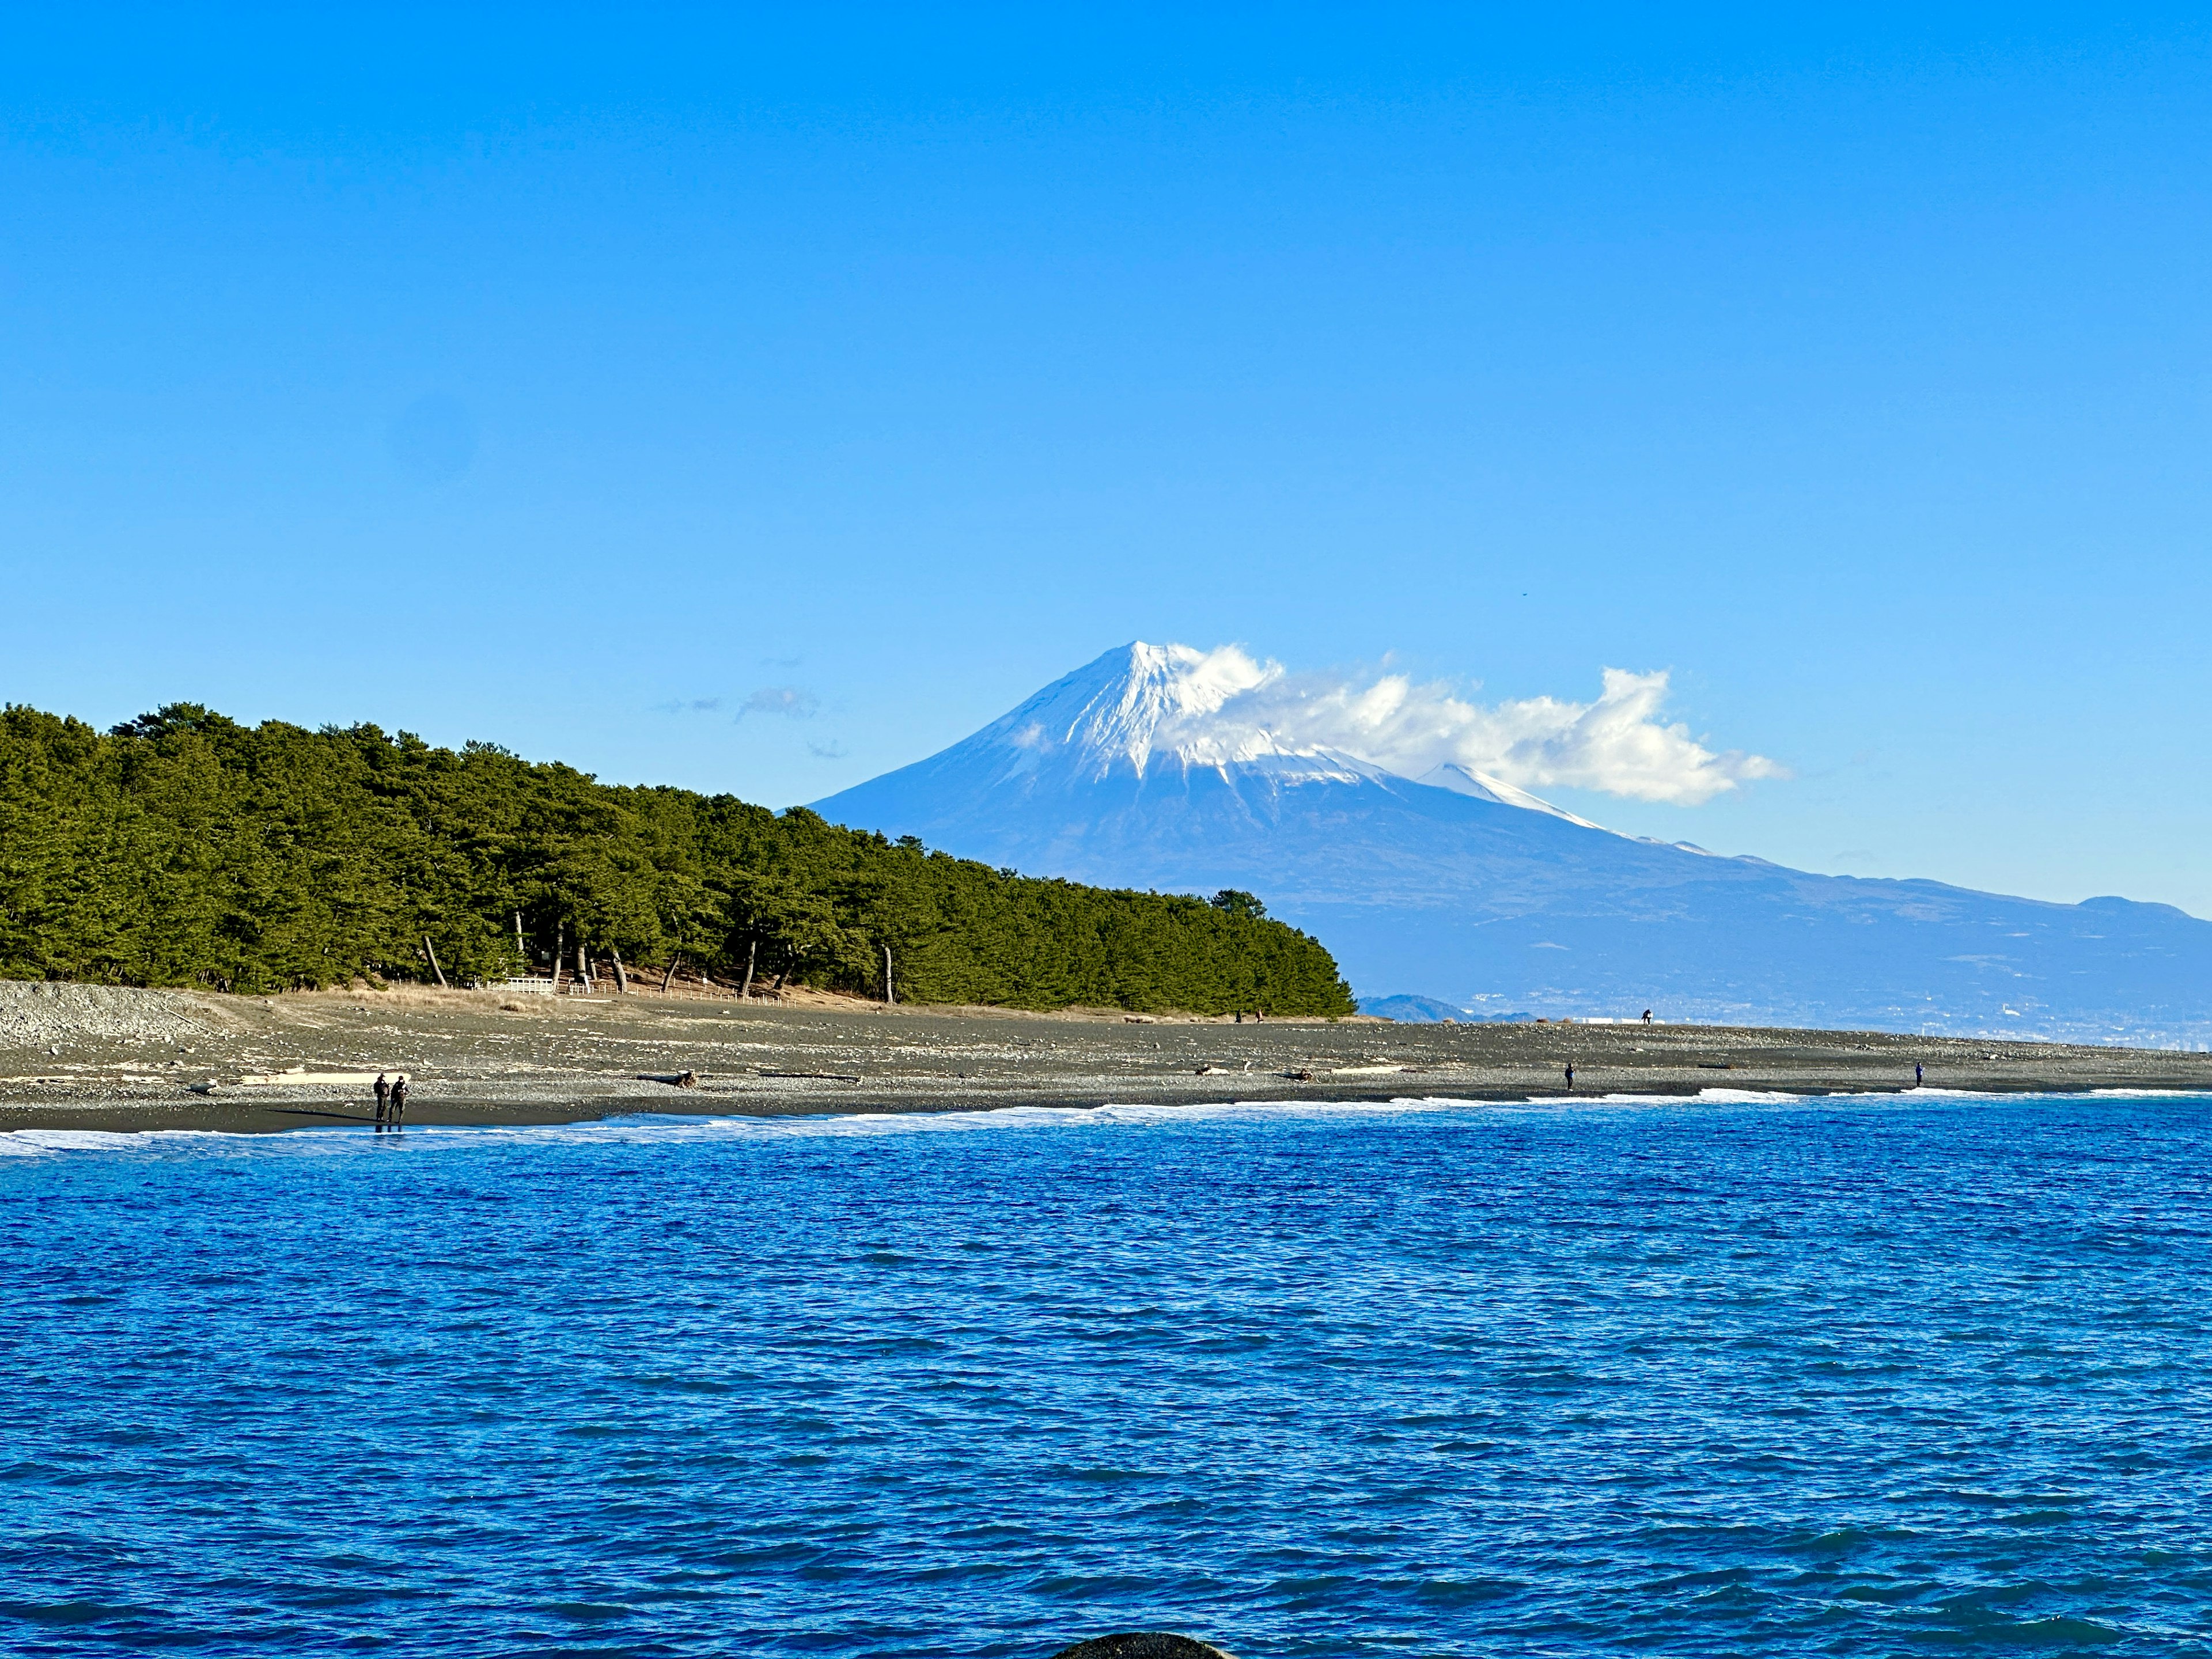
[[[1573,1062],[1575,1084],[1562,1068]],[[0,1130],[285,1130],[622,1113],[900,1113],[1219,1099],[1542,1099],[1705,1088],[2212,1091],[2212,1055],[1851,1031],[1133,1018],[885,1009],[796,993],[542,998],[319,991],[226,998],[0,984]],[[692,1075],[690,1086],[659,1082]]]

